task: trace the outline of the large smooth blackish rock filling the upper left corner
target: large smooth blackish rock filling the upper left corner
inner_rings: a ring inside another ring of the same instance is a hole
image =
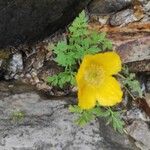
[[[32,43],[68,25],[90,0],[0,0],[0,47]]]

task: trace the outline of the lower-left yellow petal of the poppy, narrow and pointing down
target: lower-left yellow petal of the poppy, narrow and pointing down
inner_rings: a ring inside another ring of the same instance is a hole
[[[83,82],[82,82],[83,83]],[[95,89],[86,84],[80,84],[78,86],[78,105],[82,109],[93,108],[96,104]]]

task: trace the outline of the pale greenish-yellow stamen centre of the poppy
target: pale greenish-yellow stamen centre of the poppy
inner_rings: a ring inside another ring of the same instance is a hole
[[[90,85],[100,85],[104,80],[104,70],[97,64],[91,64],[84,75],[85,81]]]

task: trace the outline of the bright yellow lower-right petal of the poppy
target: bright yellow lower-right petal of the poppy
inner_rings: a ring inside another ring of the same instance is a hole
[[[119,82],[114,77],[107,77],[99,87],[97,100],[101,106],[113,106],[122,101],[122,95]]]

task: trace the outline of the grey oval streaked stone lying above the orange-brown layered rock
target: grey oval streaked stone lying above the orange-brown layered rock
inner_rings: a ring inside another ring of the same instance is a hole
[[[131,22],[139,21],[141,18],[143,18],[143,14],[141,16],[136,16],[133,9],[126,9],[114,14],[110,18],[110,25],[112,26],[126,25]]]

